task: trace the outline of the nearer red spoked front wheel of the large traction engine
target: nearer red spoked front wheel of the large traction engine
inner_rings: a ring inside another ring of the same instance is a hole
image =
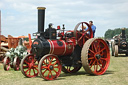
[[[55,55],[46,55],[40,60],[38,69],[43,79],[54,80],[61,73],[61,63]]]

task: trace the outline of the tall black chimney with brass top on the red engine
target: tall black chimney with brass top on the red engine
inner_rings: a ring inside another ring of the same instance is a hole
[[[37,7],[38,9],[38,33],[41,36],[44,33],[44,22],[45,22],[45,7]]]

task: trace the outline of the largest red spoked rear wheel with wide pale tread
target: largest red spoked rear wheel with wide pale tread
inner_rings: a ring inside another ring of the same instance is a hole
[[[110,51],[102,39],[91,38],[84,44],[81,61],[85,71],[93,75],[102,75],[110,62]]]

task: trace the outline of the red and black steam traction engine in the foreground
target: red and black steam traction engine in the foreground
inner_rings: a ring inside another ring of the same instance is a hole
[[[45,8],[38,7],[37,38],[31,46],[31,54],[21,61],[21,71],[26,77],[38,74],[45,80],[56,79],[61,70],[76,73],[83,66],[93,75],[102,75],[107,70],[110,52],[106,42],[93,38],[92,29],[86,22],[80,22],[72,31],[49,27],[44,31]],[[88,27],[85,30],[85,25]],[[59,39],[58,39],[59,38]]]

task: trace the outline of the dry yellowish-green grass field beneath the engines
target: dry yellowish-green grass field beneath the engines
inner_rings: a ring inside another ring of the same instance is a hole
[[[91,76],[83,68],[76,74],[63,72],[54,81],[44,81],[40,76],[26,78],[21,71],[4,71],[0,64],[0,85],[128,85],[128,57],[113,57],[104,75]]]

